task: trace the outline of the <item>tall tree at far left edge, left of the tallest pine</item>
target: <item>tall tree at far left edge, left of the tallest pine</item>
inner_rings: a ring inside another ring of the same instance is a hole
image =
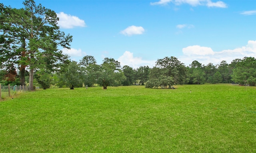
[[[20,22],[17,16],[25,16],[25,11],[12,9],[0,4],[0,61],[4,69],[20,70],[20,84],[25,84],[25,68],[28,65],[26,57],[26,43],[28,34],[22,26],[17,26]]]

